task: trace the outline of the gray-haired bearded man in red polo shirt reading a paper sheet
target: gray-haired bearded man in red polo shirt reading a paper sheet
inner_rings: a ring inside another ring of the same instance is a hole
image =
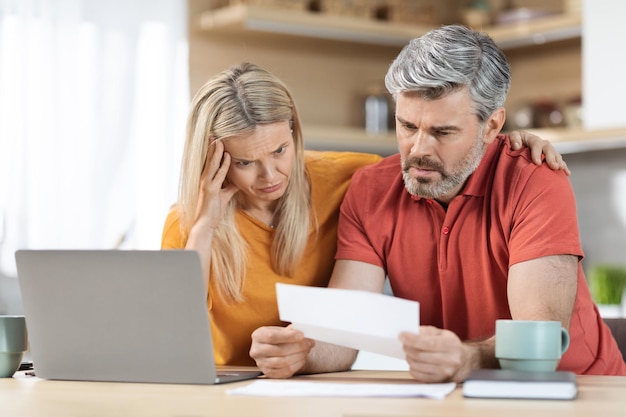
[[[431,31],[393,62],[399,155],[354,175],[344,199],[331,287],[420,302],[419,334],[400,335],[411,375],[463,381],[498,367],[495,320],[557,320],[571,343],[559,369],[626,375],[593,304],[573,191],[499,135],[510,69],[485,34]],[[356,352],[292,328],[260,329],[251,355],[269,377],[349,368]]]

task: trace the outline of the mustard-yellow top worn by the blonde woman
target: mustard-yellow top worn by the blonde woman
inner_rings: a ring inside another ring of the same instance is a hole
[[[229,304],[212,295],[216,292],[209,283],[209,317],[218,365],[254,365],[249,355],[252,332],[261,326],[285,325],[278,318],[277,282],[319,287],[328,284],[337,249],[339,206],[352,174],[380,159],[378,155],[352,152],[306,152],[305,166],[318,230],[309,231],[309,241],[292,278],[279,275],[272,268],[270,247],[274,230],[243,211],[236,213],[239,231],[249,247],[243,288],[245,301]],[[180,249],[185,243],[178,213],[173,209],[165,222],[161,247]]]

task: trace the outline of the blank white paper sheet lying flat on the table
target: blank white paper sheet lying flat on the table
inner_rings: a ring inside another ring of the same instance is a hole
[[[456,384],[366,384],[258,380],[226,391],[261,397],[425,397],[444,399]]]

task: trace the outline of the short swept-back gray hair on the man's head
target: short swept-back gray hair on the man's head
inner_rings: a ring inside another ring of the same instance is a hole
[[[398,93],[415,92],[434,100],[468,87],[481,122],[504,106],[510,84],[509,63],[493,39],[461,25],[413,39],[385,76],[394,99]]]

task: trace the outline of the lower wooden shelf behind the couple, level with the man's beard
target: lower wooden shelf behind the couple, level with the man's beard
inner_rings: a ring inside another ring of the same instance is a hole
[[[605,130],[535,129],[529,132],[550,140],[563,155],[626,149],[626,127]],[[304,140],[308,149],[370,152],[383,156],[398,152],[394,132],[370,135],[358,128],[305,126]]]

